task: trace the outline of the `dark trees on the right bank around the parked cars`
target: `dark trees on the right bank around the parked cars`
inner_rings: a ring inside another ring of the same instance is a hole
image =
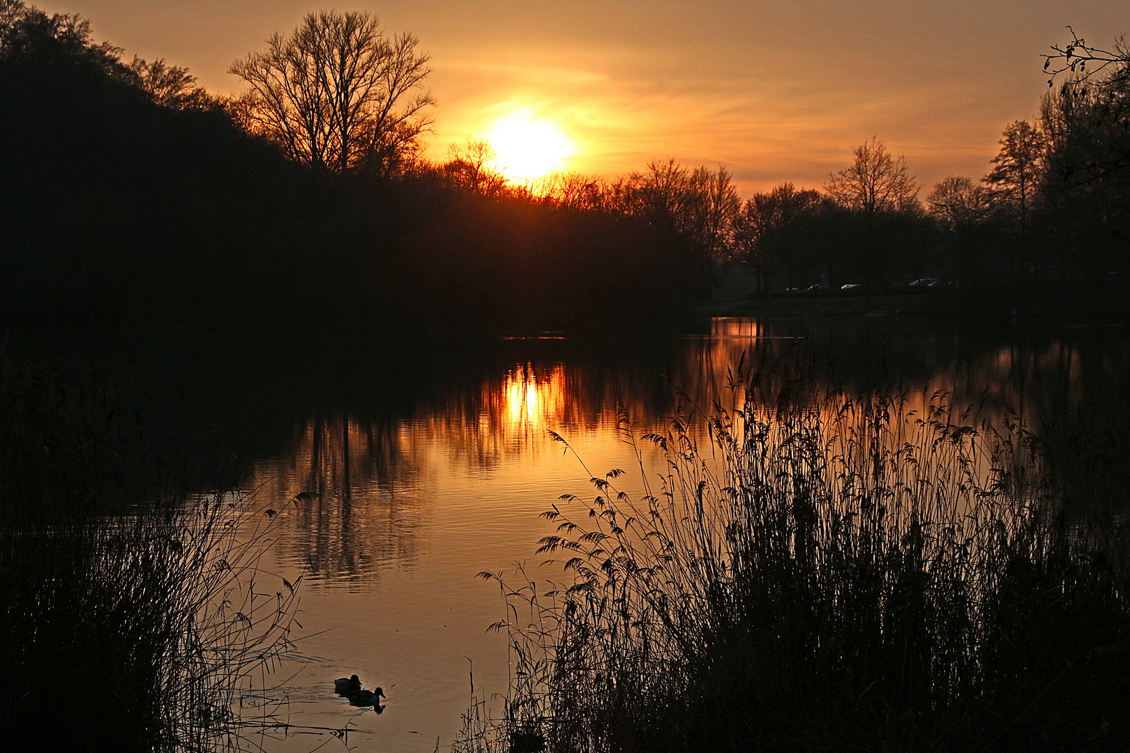
[[[872,139],[823,192],[786,183],[749,199],[731,261],[765,291],[935,278],[981,306],[1072,289],[1118,299],[1130,282],[1130,53],[1078,38],[1053,52],[1040,116],[1005,129],[980,180],[946,177],[923,203],[905,159]]]

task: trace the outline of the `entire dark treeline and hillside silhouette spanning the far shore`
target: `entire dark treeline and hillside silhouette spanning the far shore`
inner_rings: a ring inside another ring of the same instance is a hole
[[[742,202],[724,167],[673,159],[519,184],[470,139],[429,163],[417,46],[368,14],[311,14],[235,61],[249,89],[219,97],[77,16],[0,0],[8,316],[562,327],[702,298],[728,265],[759,292],[937,278],[1006,307],[1127,281],[1121,47],[1009,125],[980,181],[922,202],[871,139],[823,191]]]

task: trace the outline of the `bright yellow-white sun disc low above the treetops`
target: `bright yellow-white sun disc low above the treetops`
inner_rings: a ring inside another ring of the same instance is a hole
[[[557,123],[511,113],[494,122],[487,133],[498,170],[506,177],[529,181],[559,170],[573,156],[573,141]]]

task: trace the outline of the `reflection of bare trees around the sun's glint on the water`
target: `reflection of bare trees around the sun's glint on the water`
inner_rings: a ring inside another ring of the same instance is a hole
[[[616,405],[651,415],[666,389],[636,369],[564,362],[519,364],[477,385],[450,385],[411,415],[367,420],[315,414],[279,457],[257,463],[249,485],[276,500],[289,533],[282,557],[334,580],[411,562],[425,542],[421,492],[434,473],[497,470],[551,449],[549,429],[611,431]],[[447,484],[472,484],[446,479]]]

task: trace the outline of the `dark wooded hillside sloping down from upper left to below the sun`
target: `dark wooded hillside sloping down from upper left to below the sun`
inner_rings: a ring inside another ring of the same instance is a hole
[[[125,62],[76,16],[7,0],[3,306],[98,324],[525,326],[681,291],[679,260],[641,222],[467,191],[421,165],[410,131],[426,130],[426,104],[385,114],[400,147],[370,119],[356,164],[340,146],[324,164],[292,159],[253,96],[211,96],[165,61]]]

